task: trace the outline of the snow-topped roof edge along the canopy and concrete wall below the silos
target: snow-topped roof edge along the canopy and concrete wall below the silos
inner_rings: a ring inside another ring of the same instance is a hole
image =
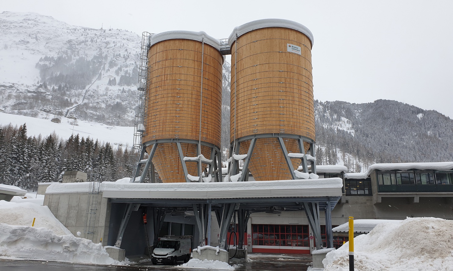
[[[87,193],[91,182],[55,183],[46,194]],[[266,182],[102,182],[106,198],[226,199],[341,196],[342,179],[281,180]]]

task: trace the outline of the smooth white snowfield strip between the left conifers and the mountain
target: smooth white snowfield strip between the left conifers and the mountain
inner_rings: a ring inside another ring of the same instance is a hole
[[[132,147],[134,140],[134,127],[110,126],[92,121],[77,121],[77,126],[71,125],[71,119],[61,117],[61,123],[54,123],[48,119],[19,116],[0,113],[0,126],[12,124],[20,126],[24,123],[27,126],[28,136],[46,137],[55,132],[63,140],[67,140],[72,134],[79,134],[80,137],[88,136],[100,143],[110,142],[114,147],[121,145],[122,148]]]

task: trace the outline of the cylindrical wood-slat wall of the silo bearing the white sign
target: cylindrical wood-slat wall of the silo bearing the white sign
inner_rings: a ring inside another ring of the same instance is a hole
[[[301,48],[288,52],[287,44]],[[231,141],[262,133],[315,138],[311,43],[289,28],[260,28],[231,45]],[[236,70],[235,70],[236,69]],[[237,76],[237,82],[235,82]],[[236,99],[235,101],[235,86]]]

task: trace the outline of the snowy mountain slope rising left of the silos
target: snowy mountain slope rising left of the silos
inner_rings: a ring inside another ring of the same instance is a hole
[[[70,110],[87,121],[131,126],[140,40],[125,30],[5,11],[0,14],[0,109],[32,117]]]

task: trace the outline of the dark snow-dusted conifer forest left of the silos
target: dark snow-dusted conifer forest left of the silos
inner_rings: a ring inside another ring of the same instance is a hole
[[[109,142],[78,134],[65,141],[55,134],[27,136],[26,124],[0,126],[0,183],[28,191],[35,191],[39,182],[61,182],[67,170],[108,182],[131,177],[136,157],[127,148],[114,149]]]

